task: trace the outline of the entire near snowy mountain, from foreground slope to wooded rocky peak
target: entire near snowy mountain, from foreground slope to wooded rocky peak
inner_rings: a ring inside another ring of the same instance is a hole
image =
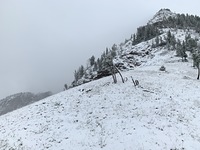
[[[0,116],[0,150],[198,150],[198,18],[139,27],[81,66],[73,88]]]

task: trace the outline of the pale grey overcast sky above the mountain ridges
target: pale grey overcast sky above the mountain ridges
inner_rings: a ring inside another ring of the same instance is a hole
[[[200,15],[197,0],[0,0],[0,98],[62,91],[73,72],[129,38],[161,8]]]

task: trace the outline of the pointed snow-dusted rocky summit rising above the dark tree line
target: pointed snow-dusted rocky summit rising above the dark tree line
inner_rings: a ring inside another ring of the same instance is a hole
[[[161,9],[159,10],[154,17],[149,20],[148,24],[154,24],[156,22],[163,21],[164,19],[167,19],[169,17],[175,17],[176,14],[171,12],[169,9]]]

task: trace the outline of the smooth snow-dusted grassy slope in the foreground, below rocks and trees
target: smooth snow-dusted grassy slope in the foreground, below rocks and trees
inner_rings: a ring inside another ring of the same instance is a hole
[[[1,116],[0,149],[199,150],[197,70],[172,53]]]

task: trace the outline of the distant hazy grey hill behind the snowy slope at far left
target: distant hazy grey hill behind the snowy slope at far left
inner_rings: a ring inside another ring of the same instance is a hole
[[[26,93],[17,93],[17,94],[8,96],[0,100],[0,115],[22,108],[26,105],[37,102],[51,95],[52,95],[51,92],[45,92],[45,93],[39,93],[39,94],[26,92]]]

